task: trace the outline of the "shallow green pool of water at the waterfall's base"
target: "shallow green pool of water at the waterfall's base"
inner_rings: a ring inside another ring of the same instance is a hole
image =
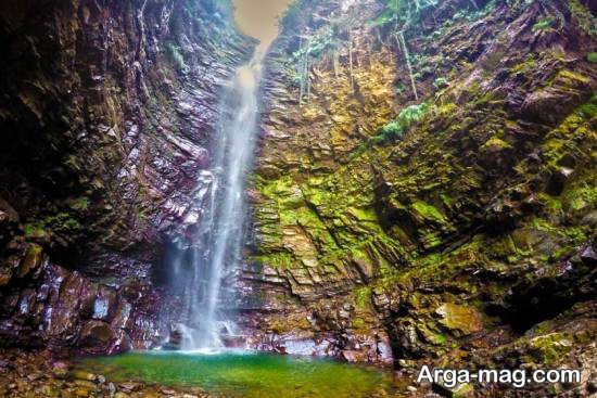
[[[392,374],[381,369],[246,350],[128,352],[81,359],[77,367],[114,382],[201,387],[215,397],[398,397]]]

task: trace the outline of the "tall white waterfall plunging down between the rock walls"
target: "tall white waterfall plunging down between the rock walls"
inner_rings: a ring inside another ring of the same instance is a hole
[[[199,190],[202,217],[193,247],[174,265],[174,285],[182,296],[182,349],[220,347],[221,334],[233,333],[233,322],[223,311],[225,296],[233,292],[227,292],[224,280],[231,278],[241,259],[244,188],[255,150],[261,59],[256,54],[226,86],[211,169],[199,177],[200,187],[209,189]]]

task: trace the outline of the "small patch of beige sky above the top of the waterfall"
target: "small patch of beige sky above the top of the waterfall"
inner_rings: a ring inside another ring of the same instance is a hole
[[[265,51],[278,36],[278,18],[291,2],[292,0],[232,0],[239,28],[261,41],[257,51]]]

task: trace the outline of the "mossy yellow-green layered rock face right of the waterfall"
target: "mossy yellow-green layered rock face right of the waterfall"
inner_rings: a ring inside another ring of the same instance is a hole
[[[401,37],[376,1],[293,8],[268,57],[250,195],[252,344],[588,377],[592,12],[443,1]]]

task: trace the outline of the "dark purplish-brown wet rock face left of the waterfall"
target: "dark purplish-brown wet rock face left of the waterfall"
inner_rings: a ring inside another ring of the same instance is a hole
[[[219,87],[254,43],[212,0],[3,2],[0,18],[0,341],[154,345],[174,312],[164,244],[201,217]]]

